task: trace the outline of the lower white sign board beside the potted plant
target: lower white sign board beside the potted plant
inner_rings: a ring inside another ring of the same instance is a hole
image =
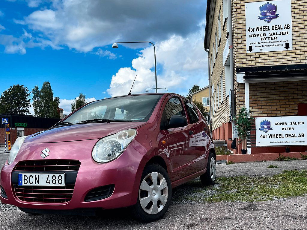
[[[307,116],[256,117],[256,146],[307,145]]]

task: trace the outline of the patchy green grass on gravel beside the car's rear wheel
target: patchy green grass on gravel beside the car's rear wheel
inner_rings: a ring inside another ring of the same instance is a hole
[[[292,170],[271,176],[220,177],[209,187],[202,187],[200,180],[192,180],[175,188],[173,198],[175,202],[255,202],[305,194],[307,170]]]

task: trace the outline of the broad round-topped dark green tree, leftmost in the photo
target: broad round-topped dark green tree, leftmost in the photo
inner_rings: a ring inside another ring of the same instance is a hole
[[[30,114],[30,93],[23,85],[13,85],[1,94],[0,113]]]

